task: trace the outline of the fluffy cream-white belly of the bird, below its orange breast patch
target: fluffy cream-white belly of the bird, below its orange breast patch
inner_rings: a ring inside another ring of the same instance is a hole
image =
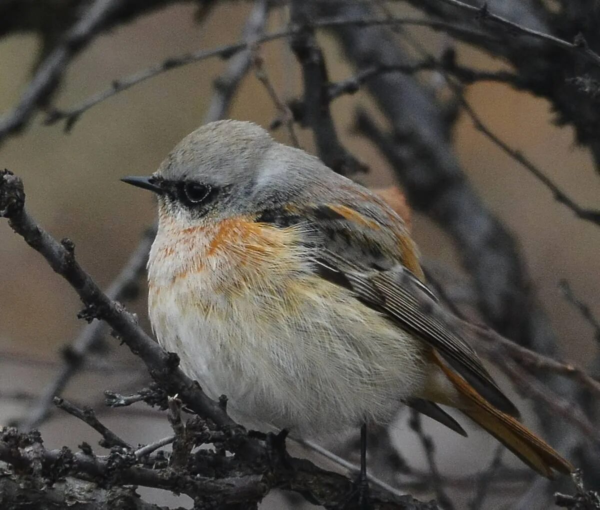
[[[173,278],[151,254],[149,315],[160,344],[209,396],[226,395],[242,424],[321,435],[386,423],[401,398],[421,392],[421,343],[346,289],[309,273],[281,278],[271,266],[251,277],[224,267],[213,258]]]

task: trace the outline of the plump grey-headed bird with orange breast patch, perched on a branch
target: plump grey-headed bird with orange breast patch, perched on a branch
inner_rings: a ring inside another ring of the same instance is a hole
[[[151,177],[158,341],[229,409],[303,437],[390,423],[407,404],[466,435],[457,408],[544,476],[573,470],[521,425],[424,283],[382,199],[256,124],[184,138]],[[364,455],[362,455],[364,470]]]

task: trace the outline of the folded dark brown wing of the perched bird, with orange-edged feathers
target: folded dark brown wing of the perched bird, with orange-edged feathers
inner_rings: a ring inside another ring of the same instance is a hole
[[[472,347],[454,331],[448,313],[422,282],[415,246],[400,217],[385,204],[368,210],[347,203],[304,204],[258,214],[257,222],[306,225],[302,243],[313,270],[352,291],[364,305],[418,336],[499,410],[517,416]]]

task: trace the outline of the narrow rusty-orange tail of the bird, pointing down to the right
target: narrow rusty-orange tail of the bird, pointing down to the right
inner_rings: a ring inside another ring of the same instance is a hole
[[[571,473],[574,467],[562,458],[551,446],[523,427],[512,416],[502,413],[476,392],[467,381],[436,356],[456,389],[464,396],[464,407],[460,411],[496,437],[506,448],[517,455],[527,466],[547,478],[553,478],[552,469],[560,473]]]

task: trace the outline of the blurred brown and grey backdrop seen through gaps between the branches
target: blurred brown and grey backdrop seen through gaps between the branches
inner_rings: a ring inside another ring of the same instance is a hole
[[[108,87],[112,80],[170,56],[233,43],[240,37],[251,8],[250,2],[217,2],[199,24],[194,17],[196,5],[175,4],[101,34],[71,62],[52,104],[68,108]],[[404,2],[392,2],[389,8],[397,16],[415,14]],[[287,16],[286,8],[272,9],[266,31],[282,28]],[[431,53],[439,54],[448,44],[445,35],[427,28],[407,30]],[[319,34],[319,41],[332,81],[355,73],[331,35]],[[0,112],[10,111],[18,102],[31,78],[41,43],[36,35],[26,33],[0,39]],[[504,62],[467,46],[458,44],[457,49],[458,61],[470,67],[508,68]],[[280,97],[289,100],[300,96],[301,74],[286,39],[263,44],[259,52]],[[146,80],[85,112],[68,134],[62,123],[44,126],[40,114],[28,129],[8,138],[0,147],[0,166],[23,178],[29,211],[56,238],[74,241],[80,264],[103,287],[115,278],[155,217],[153,199],[125,186],[119,178],[153,172],[173,145],[203,122],[213,94],[213,80],[226,66],[227,61],[208,59]],[[423,79],[435,87],[435,73]],[[600,179],[592,159],[586,148],[575,144],[571,127],[554,124],[550,103],[499,83],[478,83],[467,88],[465,94],[499,138],[527,154],[575,202],[597,207]],[[388,186],[394,182],[388,161],[353,129],[357,107],[382,120],[364,90],[342,96],[331,105],[338,135],[344,146],[369,167],[358,180],[371,187]],[[265,87],[250,71],[242,80],[228,116],[269,127],[277,114]],[[310,130],[296,129],[301,147],[315,153]],[[283,127],[273,135],[290,142]],[[598,226],[577,219],[555,201],[538,180],[478,132],[466,115],[460,115],[455,123],[453,144],[470,183],[518,242],[530,285],[559,338],[560,359],[586,366],[596,352],[594,332],[565,300],[559,281],[566,279],[592,313],[600,315]],[[413,212],[412,231],[425,261],[464,275],[457,246],[439,226]],[[35,397],[44,392],[61,366],[62,349],[85,324],[77,320],[82,305],[75,293],[38,253],[13,234],[6,222],[0,222],[0,289],[0,424],[6,425],[31,411]],[[143,287],[128,308],[149,330],[145,297]],[[103,407],[104,389],[127,393],[147,381],[139,361],[126,347],[118,347],[118,342],[108,337],[86,361],[85,368],[70,381],[65,396],[95,407],[113,430],[134,444],[169,434],[164,416],[142,405],[122,410]],[[508,389],[508,381],[502,375],[499,378]],[[527,401],[515,398],[520,407],[529,406]],[[393,442],[410,466],[424,470],[421,445],[406,417],[407,413],[400,414],[392,430]],[[532,413],[526,413],[526,422],[539,430]],[[428,419],[424,419],[424,427],[434,434],[440,470],[455,479],[449,491],[457,508],[466,508],[477,482],[476,477],[468,475],[490,464],[496,443],[469,424],[469,439],[443,430]],[[98,439],[94,431],[64,413],[53,412],[40,430],[50,448],[75,447],[82,440],[95,445]],[[336,440],[340,439],[330,438],[327,444],[338,448]],[[292,447],[292,453],[313,455],[317,463],[339,469],[310,452]],[[356,461],[356,457],[351,460]],[[508,453],[503,461],[507,466],[521,467]],[[401,481],[401,477],[395,478]],[[518,497],[525,488],[526,484],[512,483],[504,490]],[[411,487],[410,492],[425,499],[435,496],[431,488],[422,486]],[[492,495],[484,508],[512,508],[505,494]],[[151,497],[164,503],[172,503],[175,498],[159,491]],[[184,506],[191,504],[185,497],[175,501]],[[281,494],[272,494],[263,503],[264,508],[287,508],[292,504]]]

